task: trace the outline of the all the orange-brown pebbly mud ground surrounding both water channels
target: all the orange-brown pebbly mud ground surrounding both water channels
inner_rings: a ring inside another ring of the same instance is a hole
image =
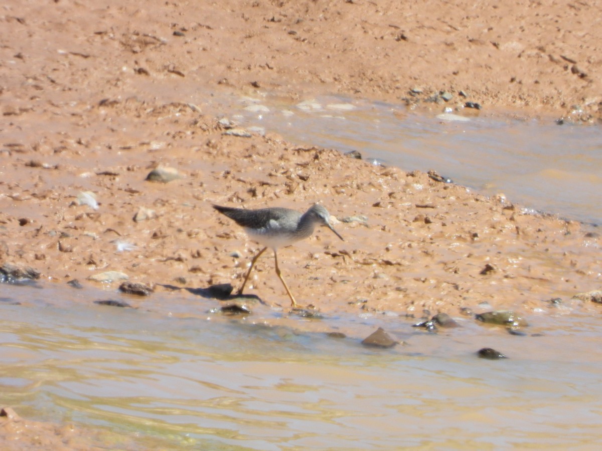
[[[65,289],[76,279],[115,293],[118,281],[90,280],[107,271],[154,287],[151,296],[236,287],[258,245],[211,204],[306,210],[320,201],[346,241],[319,230],[279,262],[299,301],[325,314],[457,316],[488,302],[528,318],[553,298],[598,314],[572,299],[600,286],[595,228],[413,168],[231,133],[220,123],[229,111],[208,113],[216,93],[336,93],[411,111],[465,114],[473,102],[482,109],[470,114],[600,123],[595,6],[398,3],[9,1],[0,265],[33,268]],[[178,177],[147,181],[154,168]],[[248,292],[286,308],[273,271],[273,259],[259,260]],[[38,427],[7,412],[7,443]],[[71,433],[40,428],[48,440]]]

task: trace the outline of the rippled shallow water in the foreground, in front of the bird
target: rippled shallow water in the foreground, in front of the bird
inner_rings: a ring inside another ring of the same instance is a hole
[[[307,320],[282,323],[268,307],[232,319],[207,313],[217,301],[178,293],[137,309],[92,304],[110,297],[2,286],[3,402],[26,417],[137,433],[154,449],[574,449],[602,440],[600,321],[586,314],[542,305],[530,336],[468,318],[436,335],[401,318],[321,320],[324,330],[383,325],[403,342],[372,349],[364,337],[299,332],[294,324]],[[510,358],[479,359],[483,346]]]

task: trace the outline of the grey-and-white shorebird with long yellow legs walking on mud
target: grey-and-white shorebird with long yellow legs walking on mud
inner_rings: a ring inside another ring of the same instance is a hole
[[[293,308],[296,308],[297,301],[295,301],[293,293],[291,293],[291,290],[282,277],[280,268],[278,268],[278,248],[308,238],[308,236],[314,233],[316,225],[326,225],[338,238],[343,240],[343,237],[330,224],[329,213],[319,204],[312,205],[305,213],[280,207],[262,208],[259,210],[246,210],[219,205],[214,205],[213,207],[220,213],[223,213],[223,215],[228,216],[228,218],[234,219],[234,222],[244,227],[249,238],[264,246],[251,260],[251,266],[244,276],[243,285],[238,290],[239,295],[243,293],[244,286],[247,280],[249,280],[249,275],[253,266],[255,266],[255,262],[270,247],[274,251],[276,274],[284,285],[284,289],[287,290],[288,297],[291,299],[291,305]]]

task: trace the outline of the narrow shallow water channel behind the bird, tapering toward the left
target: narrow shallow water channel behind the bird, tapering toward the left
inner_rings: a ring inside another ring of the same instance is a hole
[[[246,126],[293,143],[359,150],[405,170],[438,171],[483,194],[531,209],[602,223],[602,129],[554,121],[416,114],[403,105],[320,97],[296,104],[270,96],[232,100]],[[261,107],[265,108],[261,108]],[[436,106],[443,112],[444,106]]]

